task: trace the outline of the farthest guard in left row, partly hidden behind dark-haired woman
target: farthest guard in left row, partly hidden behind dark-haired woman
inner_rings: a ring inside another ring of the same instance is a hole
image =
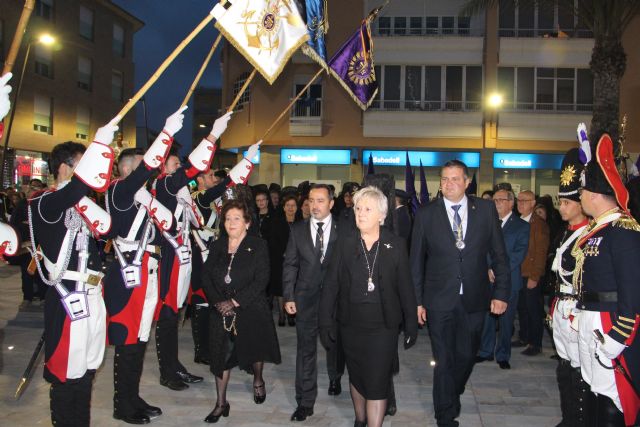
[[[229,177],[220,180],[212,169],[198,174],[196,177],[198,189],[191,193],[191,197],[202,218],[200,229],[191,230],[191,289],[189,304],[191,305],[191,333],[193,335],[194,357],[196,363],[209,364],[209,303],[202,289],[202,271],[209,256],[209,246],[216,240],[216,222],[218,213],[216,205],[222,204],[222,193],[231,182]]]

